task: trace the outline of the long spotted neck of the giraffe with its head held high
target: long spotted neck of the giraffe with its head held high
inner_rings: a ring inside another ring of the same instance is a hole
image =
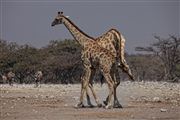
[[[78,43],[81,46],[84,46],[85,43],[89,40],[93,40],[94,38],[88,36],[86,33],[81,31],[71,20],[68,18],[64,18],[64,25],[66,28],[70,31],[72,36],[74,37],[75,40],[78,41]]]

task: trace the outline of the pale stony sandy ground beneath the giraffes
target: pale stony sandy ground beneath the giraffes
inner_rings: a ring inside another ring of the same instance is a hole
[[[102,102],[108,93],[106,84],[94,88]],[[34,85],[0,85],[0,119],[180,120],[180,84],[122,82],[117,91],[122,109],[77,109],[74,106],[79,101],[80,84],[50,84],[38,88]]]

